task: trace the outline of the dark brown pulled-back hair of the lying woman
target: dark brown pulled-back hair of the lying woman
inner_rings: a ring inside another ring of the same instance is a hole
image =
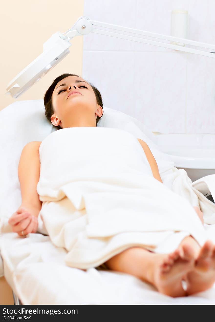
[[[54,109],[53,109],[53,106],[52,106],[52,94],[53,94],[53,91],[54,91],[55,86],[57,85],[57,83],[59,81],[61,81],[62,79],[68,77],[68,76],[80,77],[79,75],[75,75],[75,74],[62,74],[62,75],[58,76],[57,78],[55,78],[55,80],[53,81],[51,86],[48,88],[48,90],[45,92],[45,95],[43,97],[43,103],[44,103],[44,107],[45,107],[45,116],[46,116],[46,118],[48,119],[48,121],[50,123],[51,123],[51,116],[54,114]],[[92,86],[92,89],[93,89],[93,91],[95,93],[95,96],[96,96],[97,104],[100,105],[102,107],[102,110],[103,110],[103,102],[102,102],[102,97],[101,97],[101,94],[100,94],[99,90],[95,86],[93,86],[89,81],[88,81],[88,83]],[[104,111],[103,111],[103,113],[104,113]],[[102,115],[103,115],[103,113],[102,113]],[[98,123],[100,118],[101,118],[101,116],[97,115],[96,126],[97,126],[97,123]],[[60,130],[61,129],[60,125],[57,126],[57,128]]]

